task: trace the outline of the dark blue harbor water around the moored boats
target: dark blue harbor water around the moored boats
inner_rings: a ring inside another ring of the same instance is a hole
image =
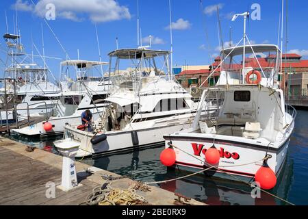
[[[296,205],[308,205],[308,111],[298,110],[295,130],[292,135],[287,160],[277,186],[270,190],[275,194]],[[40,147],[46,151],[57,153],[53,140],[39,140],[14,137],[16,140]],[[125,175],[138,181],[162,181],[174,179],[188,172],[167,170],[159,161],[159,154],[164,146],[151,149],[132,151],[131,153],[109,155],[81,162]],[[261,193],[261,198],[251,197],[249,185],[236,181],[214,179],[204,175],[195,175],[169,183],[154,184],[165,190],[177,192],[210,205],[287,205],[284,201]]]

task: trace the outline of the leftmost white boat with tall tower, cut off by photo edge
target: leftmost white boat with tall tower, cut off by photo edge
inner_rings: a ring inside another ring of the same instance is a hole
[[[25,53],[21,36],[4,34],[3,38],[8,47],[9,64],[1,79],[1,125],[29,116],[47,116],[59,98],[42,100],[40,94],[60,94],[60,87],[49,80],[52,74],[45,63],[41,67]]]

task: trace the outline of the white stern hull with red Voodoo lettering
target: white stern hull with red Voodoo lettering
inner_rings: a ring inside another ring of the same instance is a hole
[[[166,148],[168,143],[172,142],[176,153],[176,168],[190,170],[192,172],[200,171],[209,166],[205,164],[205,151],[209,149],[214,142],[214,138],[205,138],[203,134],[189,135],[179,134],[179,136],[164,136]],[[222,177],[225,179],[238,181],[251,181],[255,173],[262,166],[266,153],[272,157],[268,159],[268,166],[276,173],[277,177],[287,157],[287,148],[290,138],[274,149],[266,145],[251,144],[251,140],[233,141],[224,136],[224,140],[216,136],[215,146],[220,151],[220,161],[218,169],[211,168],[205,171],[207,175]],[[260,142],[261,143],[261,142]]]

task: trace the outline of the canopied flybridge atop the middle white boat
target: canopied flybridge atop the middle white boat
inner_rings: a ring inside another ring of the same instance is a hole
[[[171,79],[168,51],[118,49],[109,55],[113,92],[120,89],[137,93],[157,79]]]

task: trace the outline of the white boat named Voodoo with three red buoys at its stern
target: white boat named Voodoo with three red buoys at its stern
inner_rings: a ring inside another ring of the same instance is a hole
[[[296,116],[278,80],[281,51],[249,42],[224,49],[220,56],[211,73],[220,72],[220,77],[203,92],[192,127],[164,135],[162,163],[235,181],[255,179],[261,188],[273,188]],[[219,105],[216,114],[201,117],[203,104],[213,98]]]

